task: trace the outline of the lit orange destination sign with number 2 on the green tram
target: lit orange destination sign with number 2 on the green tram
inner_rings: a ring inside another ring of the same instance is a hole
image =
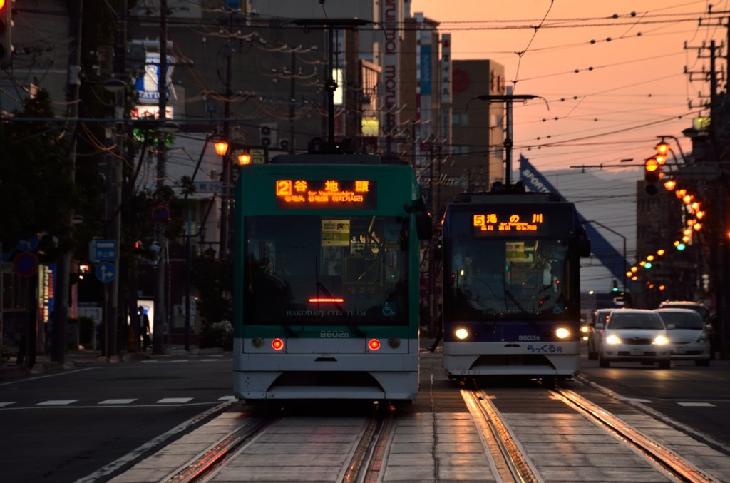
[[[377,181],[277,180],[277,210],[376,210]]]

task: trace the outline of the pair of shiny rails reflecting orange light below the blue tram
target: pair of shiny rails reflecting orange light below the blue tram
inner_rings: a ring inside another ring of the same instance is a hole
[[[631,446],[634,452],[648,460],[653,467],[658,468],[672,481],[681,483],[721,483],[720,480],[688,462],[671,449],[659,444],[653,438],[646,436],[609,411],[591,403],[591,401],[577,395],[575,392],[561,387],[548,390],[554,398],[575,409],[585,419],[599,427],[603,427],[619,441]],[[490,396],[483,389],[476,387],[476,384],[475,389],[461,389],[461,394],[469,411],[472,412],[472,416],[477,415],[477,423],[485,432],[485,438],[488,441],[492,456],[495,460],[502,457],[505,463],[504,468],[507,468],[508,473],[504,470],[499,471],[502,481],[542,483],[543,480],[539,471],[531,464],[529,457],[523,452],[518,437],[510,432],[509,426],[505,424],[502,414],[491,402]],[[482,422],[479,422],[478,419],[482,419]],[[493,438],[493,442],[489,441],[490,437]]]

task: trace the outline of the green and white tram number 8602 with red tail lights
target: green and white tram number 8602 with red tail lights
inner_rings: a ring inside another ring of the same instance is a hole
[[[234,394],[261,400],[415,400],[419,236],[407,164],[291,154],[236,186]]]

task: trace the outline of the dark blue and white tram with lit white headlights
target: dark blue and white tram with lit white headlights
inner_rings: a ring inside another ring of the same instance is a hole
[[[515,189],[516,188],[516,189]],[[443,221],[444,368],[451,379],[580,370],[580,256],[591,245],[553,194],[461,194]]]

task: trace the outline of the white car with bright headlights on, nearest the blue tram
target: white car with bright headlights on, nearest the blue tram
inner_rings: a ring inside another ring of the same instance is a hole
[[[669,369],[672,346],[659,314],[654,311],[612,311],[605,324],[596,323],[599,341],[599,365],[610,367],[611,362],[658,362]]]

